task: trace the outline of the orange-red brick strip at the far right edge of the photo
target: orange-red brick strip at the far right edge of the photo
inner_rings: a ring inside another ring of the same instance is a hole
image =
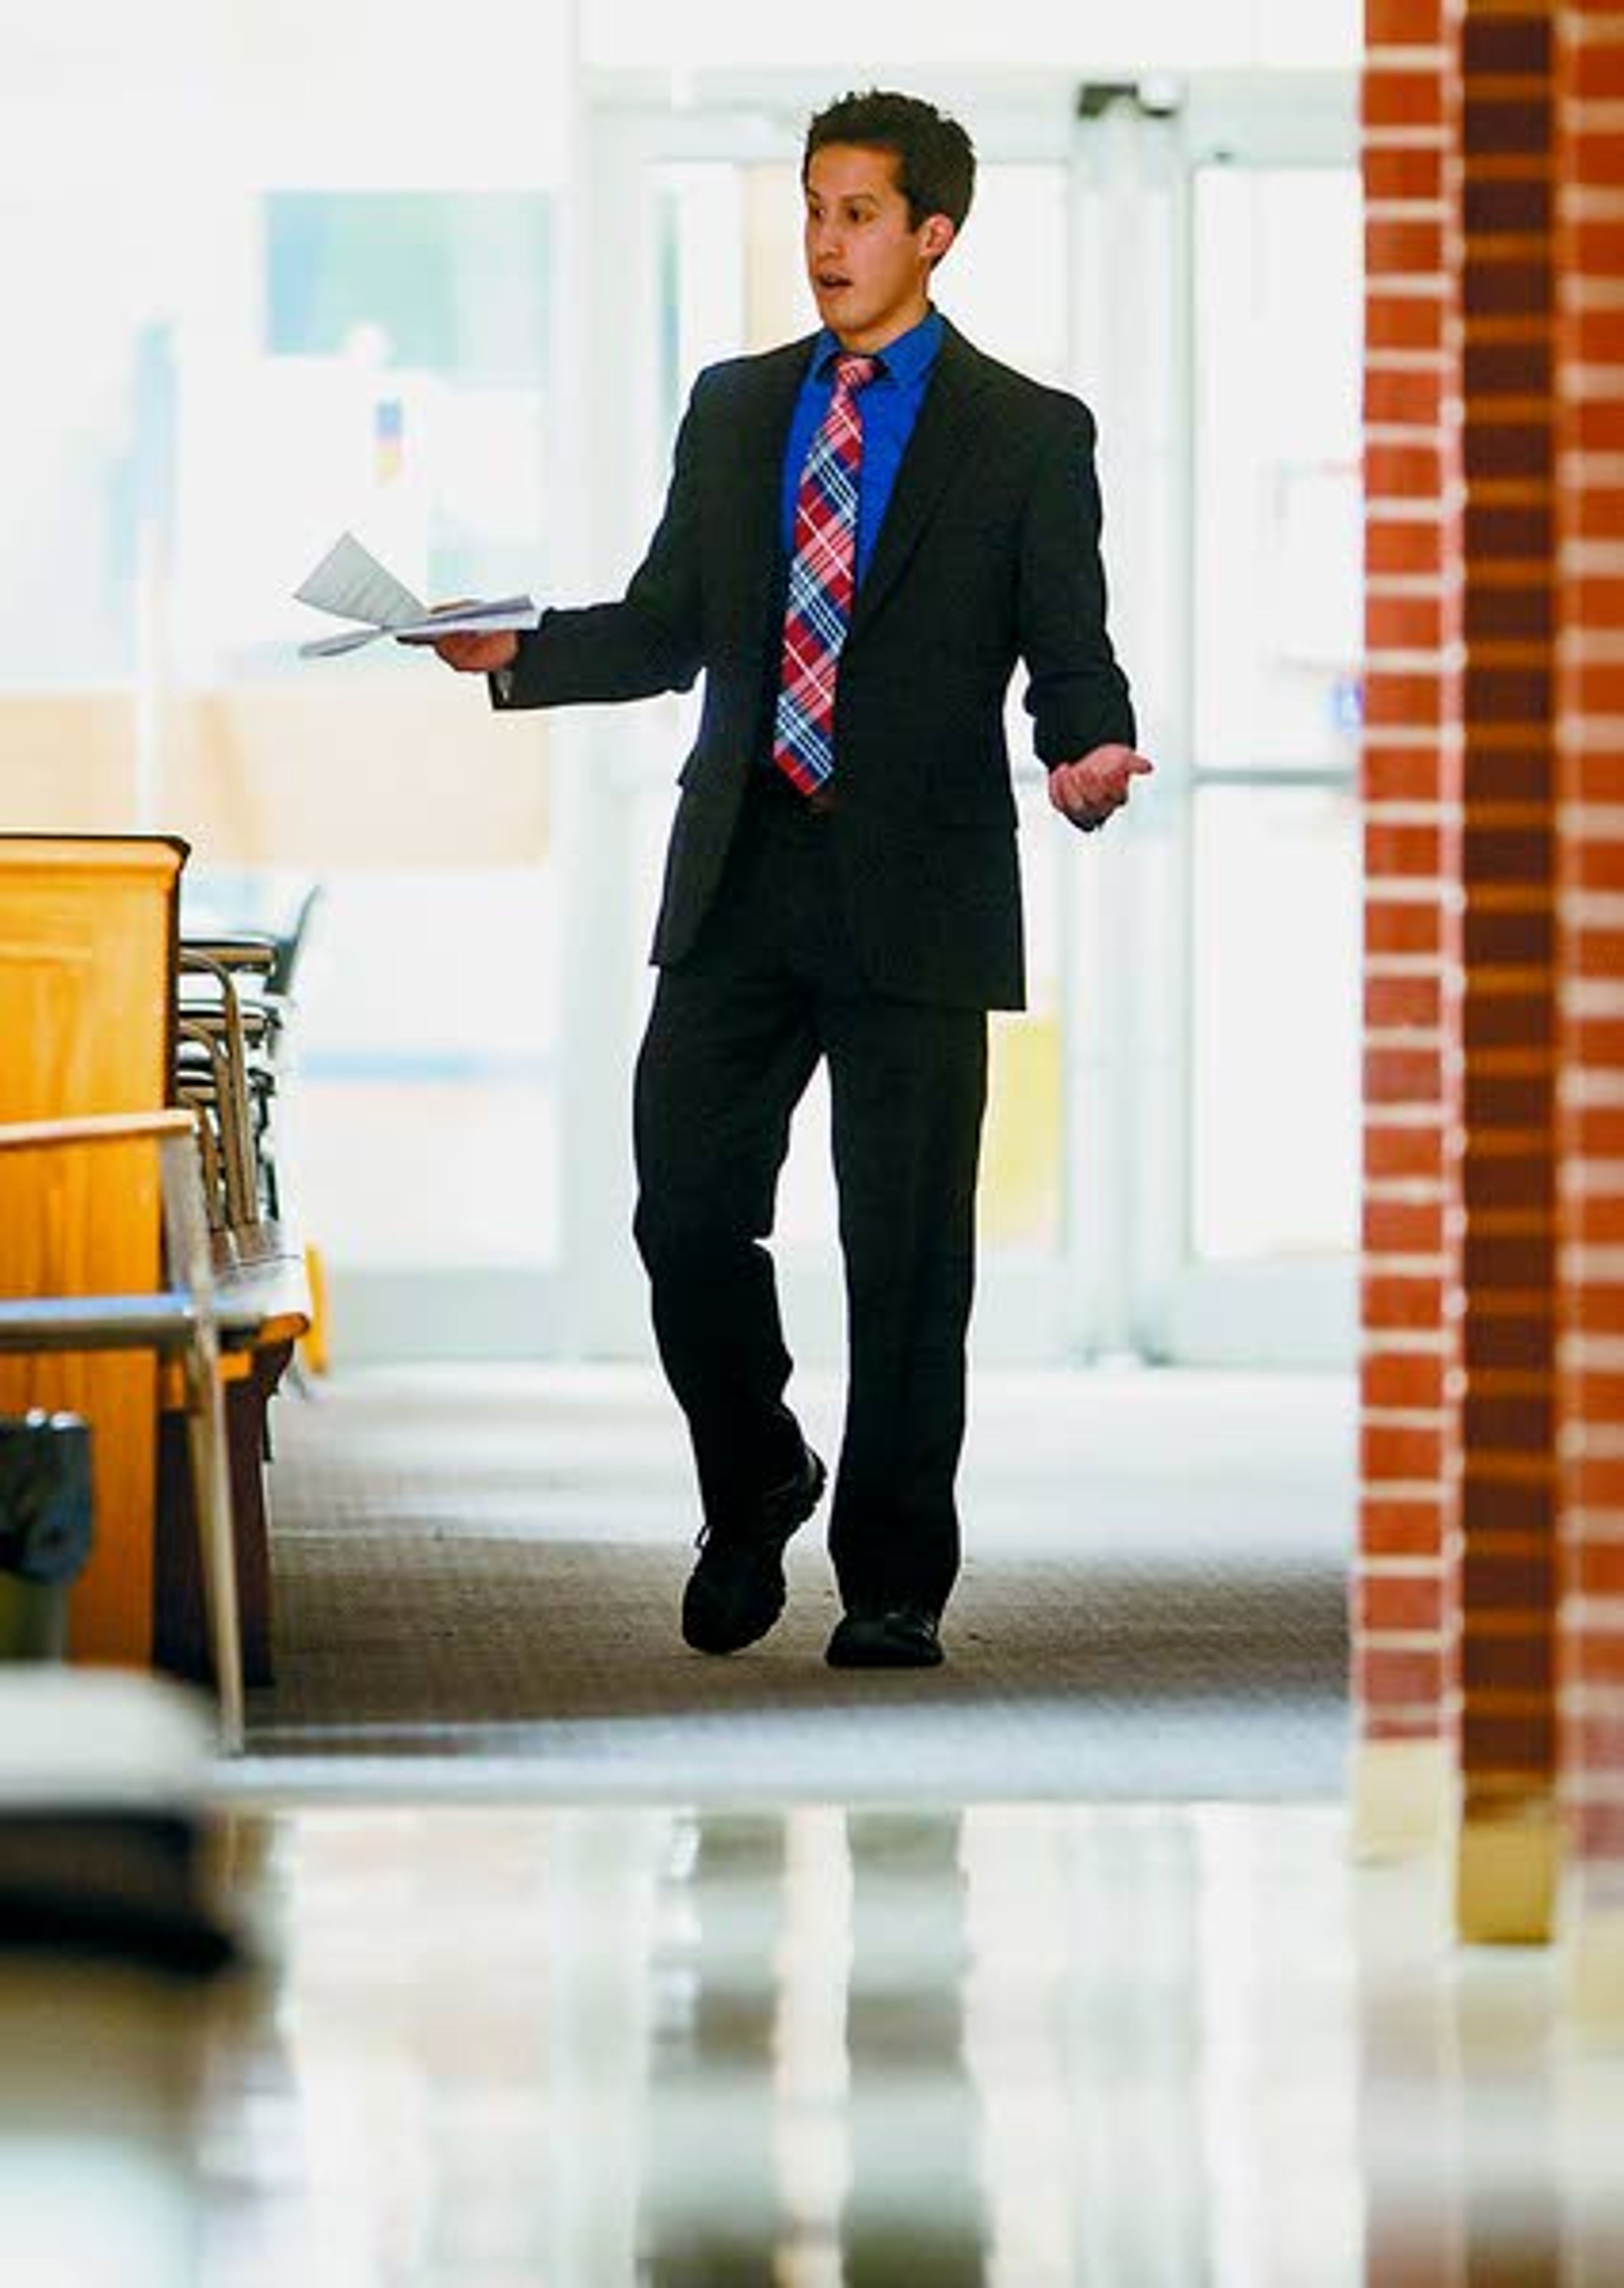
[[[1624,0],[1558,16],[1562,1933],[1624,2023]]]

